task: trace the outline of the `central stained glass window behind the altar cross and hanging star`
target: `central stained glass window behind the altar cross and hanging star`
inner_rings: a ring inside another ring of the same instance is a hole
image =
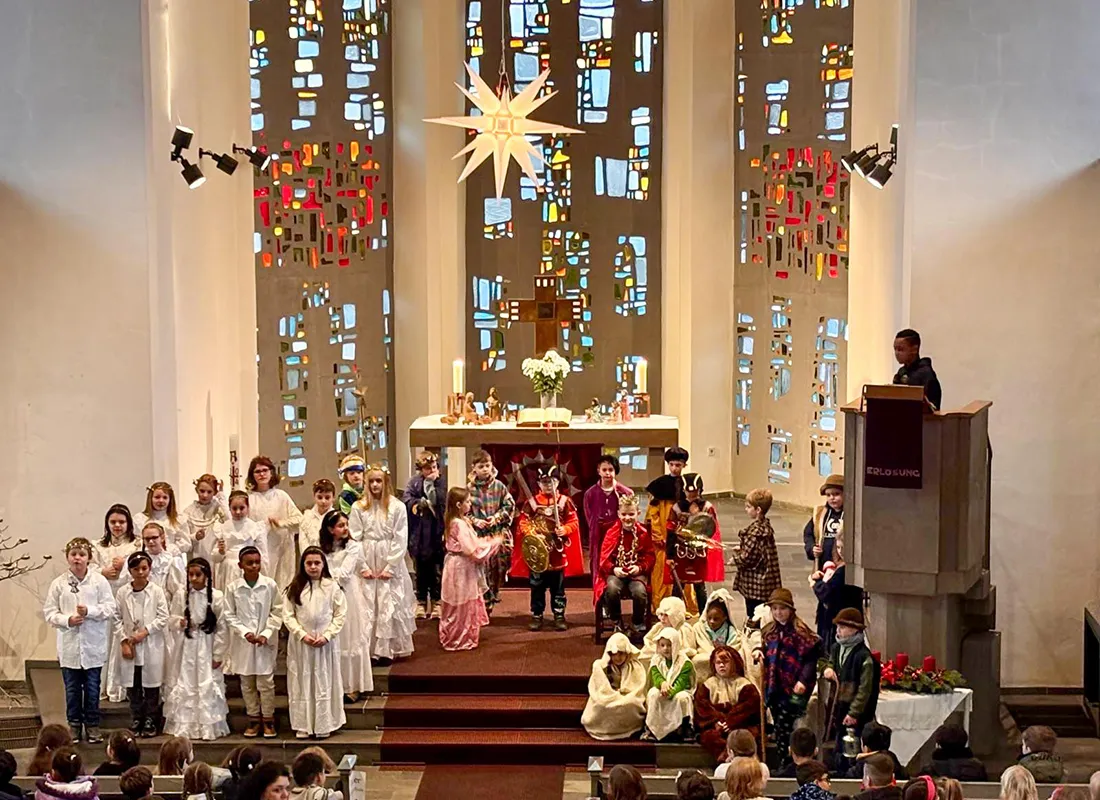
[[[466,179],[466,361],[477,399],[496,386],[505,402],[530,405],[520,364],[535,354],[529,322],[507,313],[550,276],[575,303],[558,349],[572,365],[565,403],[580,413],[634,391],[638,360],[660,412],[661,94],[660,0],[468,0],[466,56],[491,85],[501,58],[514,90],[549,67],[558,95],[538,118],[583,135],[532,138],[546,164],[539,182],[516,166],[495,197],[493,172]],[[516,315],[519,316],[518,314]]]

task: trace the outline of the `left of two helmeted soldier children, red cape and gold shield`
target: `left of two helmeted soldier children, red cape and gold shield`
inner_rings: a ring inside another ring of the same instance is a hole
[[[524,504],[516,523],[516,547],[512,554],[512,576],[530,577],[531,623],[530,631],[542,628],[546,595],[550,592],[550,610],[556,631],[565,631],[565,577],[582,574],[581,520],[576,506],[568,496],[558,493],[561,472],[554,464],[539,468],[539,491]],[[557,507],[557,512],[554,508]],[[557,514],[557,519],[554,518]],[[557,531],[546,537],[548,559],[546,569],[535,572],[524,554],[524,539],[548,531],[557,523]]]

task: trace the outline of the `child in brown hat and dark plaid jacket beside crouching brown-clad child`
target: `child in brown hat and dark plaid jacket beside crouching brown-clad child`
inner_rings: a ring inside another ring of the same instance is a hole
[[[791,590],[777,589],[768,598],[768,605],[782,605],[791,610],[791,617],[785,625],[772,620],[761,632],[765,698],[776,723],[776,746],[785,763],[791,757],[791,732],[794,731],[794,723],[805,712],[817,678],[821,639],[794,613]],[[805,691],[795,694],[794,687],[800,682]]]

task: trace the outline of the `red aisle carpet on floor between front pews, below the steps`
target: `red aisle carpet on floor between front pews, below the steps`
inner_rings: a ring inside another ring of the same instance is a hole
[[[561,767],[463,767],[429,765],[416,800],[501,798],[561,800],[565,770]]]

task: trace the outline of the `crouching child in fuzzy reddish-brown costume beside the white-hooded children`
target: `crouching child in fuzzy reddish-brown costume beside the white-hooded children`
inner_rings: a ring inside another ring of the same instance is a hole
[[[718,676],[715,661],[719,656],[730,659],[735,675]],[[732,731],[744,728],[759,738],[760,692],[745,677],[745,662],[733,647],[718,645],[711,650],[708,660],[711,677],[695,688],[695,725],[700,731],[700,744],[715,759],[722,760],[726,737]],[[718,726],[722,722],[725,727]]]

